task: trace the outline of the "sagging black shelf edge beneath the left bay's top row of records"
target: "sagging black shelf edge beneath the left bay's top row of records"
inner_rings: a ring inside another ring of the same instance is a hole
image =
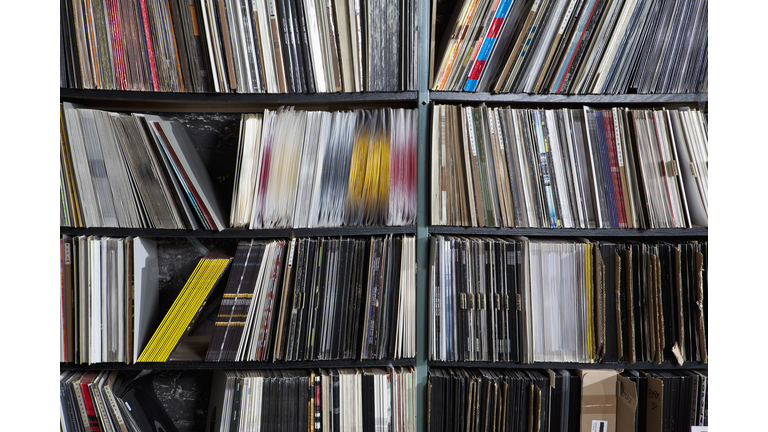
[[[60,89],[59,98],[67,101],[142,102],[158,104],[341,104],[415,102],[417,92],[357,93],[169,93],[122,90]]]

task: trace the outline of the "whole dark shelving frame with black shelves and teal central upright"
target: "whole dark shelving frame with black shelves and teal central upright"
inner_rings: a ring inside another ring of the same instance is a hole
[[[430,7],[437,5],[438,12],[446,15],[445,10],[453,7],[453,1],[431,2],[420,0],[419,26],[429,29],[431,22]],[[456,3],[459,3],[456,1]],[[446,5],[447,4],[447,5]],[[439,14],[440,15],[440,14]],[[450,15],[450,10],[447,12]],[[438,26],[439,28],[440,26]],[[444,25],[442,26],[444,28]],[[441,37],[436,33],[436,38]],[[499,362],[440,362],[427,359],[429,352],[428,321],[429,317],[429,237],[430,234],[446,235],[480,235],[480,236],[513,236],[528,237],[588,237],[614,239],[671,239],[683,238],[702,240],[708,237],[708,228],[694,227],[687,229],[546,229],[546,228],[478,228],[456,226],[433,226],[430,224],[429,202],[429,149],[430,122],[433,103],[451,103],[476,106],[488,104],[493,106],[513,106],[539,108],[562,108],[575,105],[603,106],[649,106],[649,107],[699,107],[706,110],[708,95],[703,94],[627,94],[627,95],[529,95],[529,94],[491,94],[471,92],[440,92],[430,91],[428,80],[430,75],[430,31],[420,31],[418,41],[418,90],[392,93],[328,93],[328,94],[201,94],[201,93],[159,93],[159,92],[120,92],[104,90],[60,90],[62,102],[72,102],[88,108],[108,109],[123,112],[156,112],[156,113],[191,113],[179,114],[182,118],[197,119],[207,116],[213,122],[218,122],[218,130],[211,131],[207,120],[194,120],[199,126],[200,133],[216,135],[209,139],[214,142],[210,152],[203,156],[212,177],[232,169],[236,158],[237,122],[232,113],[263,111],[264,108],[276,108],[282,105],[296,106],[304,109],[334,109],[368,107],[410,107],[418,108],[418,201],[416,225],[404,227],[340,227],[322,229],[273,229],[273,230],[240,230],[225,229],[223,231],[187,231],[187,230],[148,230],[121,228],[68,228],[61,227],[62,235],[98,235],[98,236],[147,236],[171,242],[175,239],[194,241],[198,238],[206,242],[226,242],[233,239],[249,238],[292,238],[320,236],[371,236],[384,234],[415,234],[416,236],[416,357],[414,359],[397,360],[337,360],[337,361],[296,361],[296,362],[237,362],[237,363],[208,363],[192,361],[170,361],[166,363],[115,364],[100,363],[93,365],[75,365],[61,363],[62,370],[152,370],[161,372],[162,382],[168,394],[158,395],[167,404],[169,414],[180,432],[203,430],[206,413],[200,407],[207,407],[210,392],[211,371],[215,369],[327,369],[327,368],[357,368],[379,366],[413,366],[416,371],[415,405],[417,430],[427,432],[429,417],[427,403],[427,378],[430,367],[451,368],[509,368],[509,369],[648,369],[648,370],[706,370],[706,363],[687,362],[682,366],[670,363],[499,363]],[[226,113],[219,115],[219,113]],[[186,117],[185,117],[186,116]],[[221,118],[224,120],[222,121]],[[223,129],[227,129],[226,133]],[[228,143],[228,144],[227,144]],[[229,146],[229,148],[224,148]],[[223,157],[221,157],[221,153]],[[223,161],[216,161],[221,158]],[[209,166],[210,164],[210,166]],[[219,196],[228,199],[231,194],[232,179],[225,180]],[[228,208],[228,206],[223,205]],[[171,259],[171,258],[167,258]],[[187,263],[188,264],[188,263]],[[181,276],[179,276],[181,277]],[[171,295],[174,297],[175,294]],[[169,303],[169,302],[168,302]],[[167,309],[167,308],[166,308]],[[161,316],[165,311],[161,310]],[[187,373],[188,372],[188,373]],[[207,380],[207,381],[206,381]],[[193,391],[182,392],[182,389],[192,388]],[[177,393],[183,393],[177,397]],[[197,407],[197,410],[190,409]],[[434,413],[433,413],[434,415]],[[186,416],[186,417],[184,417]],[[190,418],[192,416],[192,418]]]

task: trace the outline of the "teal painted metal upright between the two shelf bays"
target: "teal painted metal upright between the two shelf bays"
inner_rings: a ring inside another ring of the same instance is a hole
[[[429,278],[429,36],[430,0],[419,1],[419,51],[418,51],[418,206],[416,213],[416,430],[427,432],[427,296]]]

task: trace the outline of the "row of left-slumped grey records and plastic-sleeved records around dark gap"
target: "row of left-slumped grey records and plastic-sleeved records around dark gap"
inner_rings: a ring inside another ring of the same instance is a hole
[[[232,228],[408,225],[417,111],[243,114]],[[225,213],[184,126],[61,105],[61,225],[222,230]]]

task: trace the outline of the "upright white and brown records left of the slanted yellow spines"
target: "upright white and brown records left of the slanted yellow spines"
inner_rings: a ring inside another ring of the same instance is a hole
[[[60,244],[60,361],[135,362],[159,318],[155,241],[63,236]]]

